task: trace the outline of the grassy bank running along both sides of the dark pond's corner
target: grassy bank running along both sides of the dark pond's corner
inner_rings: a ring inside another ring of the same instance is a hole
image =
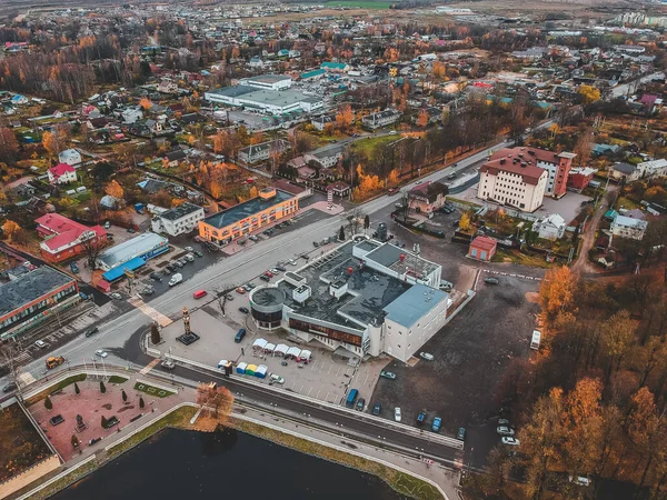
[[[9,498],[19,499],[29,494],[30,499],[47,499],[66,490],[76,482],[83,480],[89,474],[106,466],[109,461],[131,451],[146,440],[159,434],[162,430],[168,428],[197,432],[213,432],[219,426],[216,426],[215,429],[210,429],[198,426],[197,423],[190,424],[190,419],[195,416],[197,409],[198,406],[195,403],[181,403],[173,407],[169,412],[148,422],[146,427],[138,429],[135,433],[109,444],[109,447],[103,449],[106,453],[102,458],[98,458],[100,454],[99,452],[92,454],[76,466],[73,470],[68,471],[68,469],[66,469],[60,474],[44,481],[46,486],[38,486],[37,490],[36,488],[27,488],[27,492],[23,492],[22,494],[17,492]],[[229,417],[227,427],[300,453],[317,457],[339,466],[371,474],[386,482],[397,493],[409,498],[425,500],[440,500],[445,498],[434,484],[424,478],[419,478],[407,471],[398,470],[391,464],[354,454],[352,449],[344,451],[325,443],[313,442],[305,437],[292,436],[285,430],[273,429],[262,423],[255,423],[250,421],[250,419],[238,414]],[[349,446],[351,447],[354,444],[350,443]],[[67,464],[63,464],[63,467],[67,467]]]

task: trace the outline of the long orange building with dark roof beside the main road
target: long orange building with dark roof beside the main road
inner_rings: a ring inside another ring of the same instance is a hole
[[[199,236],[213,243],[227,244],[265,226],[291,218],[298,210],[299,200],[295,194],[266,188],[257,198],[199,221]]]

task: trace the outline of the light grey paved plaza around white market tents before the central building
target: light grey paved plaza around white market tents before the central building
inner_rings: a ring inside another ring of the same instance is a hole
[[[248,307],[246,296],[233,292],[235,300],[227,303],[226,316],[222,316],[217,301],[191,312],[191,329],[201,337],[190,346],[185,346],[176,338],[183,332],[181,321],[175,321],[162,329],[163,343],[158,349],[166,357],[175,356],[187,358],[199,363],[217,367],[222,359],[233,361],[235,364],[246,362],[249,364],[266,364],[267,378],[256,381],[270,383],[270,374],[276,373],[285,379],[279,388],[290,392],[328,401],[334,404],[342,404],[349,388],[359,390],[360,397],[369,401],[380,370],[388,360],[374,360],[358,367],[348,364],[347,360],[334,357],[331,351],[318,348],[317,343],[301,344],[287,338],[285,331],[277,332],[258,331],[249,317],[238,310],[239,307]],[[235,336],[240,328],[246,328],[247,334],[239,343],[235,342]],[[252,343],[257,339],[289,347],[296,346],[312,352],[310,363],[297,363],[296,360],[285,360],[281,357],[267,356],[255,352]],[[299,364],[302,367],[299,368]]]

